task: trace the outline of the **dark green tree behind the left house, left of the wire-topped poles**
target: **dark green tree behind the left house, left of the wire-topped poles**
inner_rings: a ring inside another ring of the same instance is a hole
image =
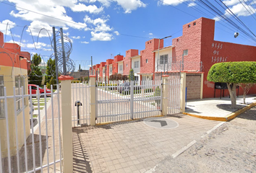
[[[38,67],[41,63],[41,57],[38,55],[38,53],[35,53],[35,55],[32,57],[31,61],[31,71],[28,71],[28,84],[36,84],[40,85],[43,79],[43,74],[40,68]]]

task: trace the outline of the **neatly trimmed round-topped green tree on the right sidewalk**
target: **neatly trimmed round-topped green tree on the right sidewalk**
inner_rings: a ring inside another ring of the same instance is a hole
[[[208,72],[208,81],[226,83],[231,98],[231,107],[236,107],[236,86],[256,83],[256,62],[240,61],[216,63]]]

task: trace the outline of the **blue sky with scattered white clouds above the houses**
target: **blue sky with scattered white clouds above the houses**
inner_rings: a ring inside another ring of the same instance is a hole
[[[236,21],[228,9],[218,6],[220,0],[208,1],[226,14],[226,19]],[[250,35],[256,33],[256,3],[222,2],[242,21],[236,21],[236,27],[197,0],[0,0],[0,31],[6,35],[4,42],[18,43],[22,51],[38,53],[47,61],[54,53],[52,27],[63,28],[72,43],[69,57],[76,70],[79,65],[88,69],[91,56],[97,64],[119,53],[125,56],[129,49],[140,52],[152,38],[171,35],[164,46],[171,45],[172,39],[182,36],[182,25],[200,17],[216,19],[215,40],[256,46],[255,40],[238,28],[247,27]],[[239,36],[235,38],[234,32]]]

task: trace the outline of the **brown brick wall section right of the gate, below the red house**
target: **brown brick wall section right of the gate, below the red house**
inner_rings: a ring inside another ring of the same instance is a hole
[[[201,74],[186,74],[187,100],[200,99]]]

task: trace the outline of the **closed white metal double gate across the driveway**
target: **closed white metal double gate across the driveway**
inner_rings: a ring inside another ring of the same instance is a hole
[[[97,84],[96,123],[161,115],[161,81]]]

